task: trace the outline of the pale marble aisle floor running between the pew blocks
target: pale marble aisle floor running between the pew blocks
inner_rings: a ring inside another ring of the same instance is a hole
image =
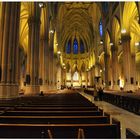
[[[134,113],[128,112],[122,108],[114,106],[104,101],[94,101],[94,97],[84,92],[80,92],[81,95],[86,97],[89,101],[96,104],[99,108],[102,108],[104,112],[111,115],[111,118],[116,118],[121,123],[121,138],[126,138],[126,128],[131,128],[137,134],[140,135],[140,116]]]

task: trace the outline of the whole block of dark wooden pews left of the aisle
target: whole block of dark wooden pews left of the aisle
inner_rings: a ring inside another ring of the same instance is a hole
[[[0,138],[120,137],[120,122],[78,93],[20,97],[0,106]]]

